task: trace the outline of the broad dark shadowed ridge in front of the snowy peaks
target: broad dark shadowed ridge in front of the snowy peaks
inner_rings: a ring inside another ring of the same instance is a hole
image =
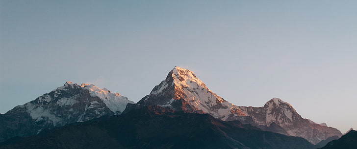
[[[0,149],[315,149],[303,138],[261,131],[209,114],[144,106],[126,114],[54,128]]]

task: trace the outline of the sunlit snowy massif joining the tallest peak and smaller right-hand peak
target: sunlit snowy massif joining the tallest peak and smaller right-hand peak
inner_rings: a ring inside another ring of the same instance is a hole
[[[223,121],[238,120],[263,130],[303,137],[313,144],[342,135],[335,128],[302,118],[290,104],[278,98],[263,107],[235,106],[209,90],[192,71],[180,67],[171,70],[137,105],[128,104],[126,111],[150,105],[187,113],[207,113]]]

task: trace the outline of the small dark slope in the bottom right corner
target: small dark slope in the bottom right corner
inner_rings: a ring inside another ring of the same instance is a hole
[[[329,142],[321,149],[357,149],[357,131],[351,130],[338,140]]]

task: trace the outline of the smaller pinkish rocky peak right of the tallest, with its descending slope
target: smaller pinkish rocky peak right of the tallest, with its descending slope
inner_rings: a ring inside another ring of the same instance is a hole
[[[327,127],[326,124],[316,124],[311,120],[302,118],[289,103],[278,98],[269,100],[263,107],[239,106],[239,108],[244,114],[251,116],[255,124],[268,128],[272,124],[274,127],[279,126],[285,130],[279,131],[279,133],[303,137],[313,144],[332,136],[340,137],[342,135],[336,128]],[[270,131],[277,132],[274,129],[270,129]]]

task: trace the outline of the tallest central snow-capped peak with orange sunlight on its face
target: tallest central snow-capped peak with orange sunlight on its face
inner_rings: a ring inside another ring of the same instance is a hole
[[[180,67],[172,69],[166,79],[156,85],[138,105],[157,105],[186,112],[207,113],[222,120],[244,116],[237,106],[209,90],[195,73]]]

